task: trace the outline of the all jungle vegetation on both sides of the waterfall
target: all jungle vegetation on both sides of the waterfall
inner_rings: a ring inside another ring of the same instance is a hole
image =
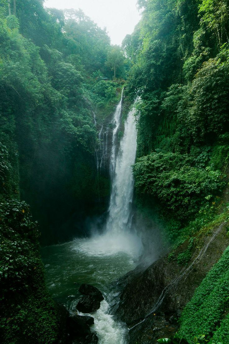
[[[137,99],[136,206],[174,247],[189,240],[172,259],[187,264],[195,234],[228,218],[229,2],[138,0],[142,19],[122,47],[80,10],[44,9],[43,0],[0,5],[1,339],[58,343],[39,240],[69,239],[66,219],[82,235],[86,214],[104,211],[97,200],[109,188],[96,174],[92,111],[100,123],[110,116],[124,82],[126,104]],[[181,316],[189,343],[199,333],[229,341],[225,267],[228,250]]]

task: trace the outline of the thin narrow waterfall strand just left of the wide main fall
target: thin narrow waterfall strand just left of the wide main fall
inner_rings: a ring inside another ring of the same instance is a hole
[[[124,90],[124,88],[123,88]],[[121,99],[116,107],[115,113],[114,113],[114,118],[113,118],[113,133],[112,133],[112,149],[111,149],[111,162],[110,162],[110,173],[111,176],[114,174],[115,170],[115,157],[116,157],[116,139],[117,139],[117,130],[121,122],[121,110],[122,110],[122,101],[123,101],[123,90],[122,90],[122,95]]]

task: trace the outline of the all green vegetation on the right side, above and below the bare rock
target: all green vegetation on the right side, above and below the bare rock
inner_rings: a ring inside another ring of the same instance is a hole
[[[136,205],[163,224],[174,245],[169,259],[184,266],[199,238],[228,220],[229,3],[138,4],[142,19],[123,41],[131,62],[126,92],[137,98]],[[180,324],[184,342],[204,333],[209,343],[228,343],[228,249]]]

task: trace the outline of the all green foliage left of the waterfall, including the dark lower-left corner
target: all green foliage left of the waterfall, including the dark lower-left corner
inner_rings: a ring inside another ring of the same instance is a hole
[[[102,125],[112,114],[127,68],[118,48],[119,79],[112,80],[108,54],[114,47],[106,31],[80,10],[64,13],[44,9],[43,3],[0,4],[4,344],[67,340],[62,338],[59,308],[45,287],[39,232],[43,243],[85,235],[85,217],[104,211],[110,185],[96,171],[99,142],[93,117],[95,112]]]

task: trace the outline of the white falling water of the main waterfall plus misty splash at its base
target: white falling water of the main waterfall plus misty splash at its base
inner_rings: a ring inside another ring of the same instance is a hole
[[[114,158],[114,162],[111,161],[114,172],[111,177],[112,192],[104,233],[95,235],[83,245],[83,249],[92,255],[111,255],[117,252],[127,252],[137,257],[142,248],[140,238],[131,229],[134,191],[132,165],[135,163],[137,149],[137,130],[134,114],[135,108],[128,113],[117,156]],[[114,114],[115,117],[118,118],[117,109]],[[118,121],[116,128],[118,128]],[[116,128],[114,130],[117,132]],[[115,140],[113,145],[116,146]],[[116,147],[112,147],[112,152],[115,151]]]

